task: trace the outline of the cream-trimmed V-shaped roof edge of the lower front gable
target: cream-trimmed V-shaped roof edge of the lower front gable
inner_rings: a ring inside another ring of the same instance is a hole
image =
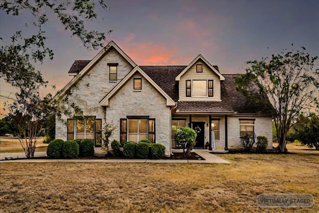
[[[101,106],[109,106],[109,100],[126,84],[135,73],[140,73],[150,84],[152,84],[160,94],[166,99],[166,106],[174,106],[175,101],[148,76],[140,67],[134,67],[101,101]]]

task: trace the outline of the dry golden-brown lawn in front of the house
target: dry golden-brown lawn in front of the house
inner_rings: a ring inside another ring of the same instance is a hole
[[[232,164],[1,163],[3,212],[319,212],[319,153],[223,154]],[[311,208],[259,208],[309,193]]]

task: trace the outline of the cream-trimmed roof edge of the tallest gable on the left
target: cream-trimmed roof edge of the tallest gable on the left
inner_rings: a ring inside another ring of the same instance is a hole
[[[133,67],[137,66],[135,62],[127,54],[125,54],[125,52],[123,52],[123,50],[114,41],[110,41],[91,61],[88,62],[87,60],[82,60],[79,62],[79,67],[75,67],[74,69],[79,70],[83,66],[84,68],[81,69],[79,73],[53,97],[52,102],[60,100],[71,88],[71,86],[79,81],[112,48],[116,49],[119,54],[123,56]]]

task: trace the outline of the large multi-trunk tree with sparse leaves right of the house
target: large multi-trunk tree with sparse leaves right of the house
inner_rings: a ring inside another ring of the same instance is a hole
[[[256,101],[269,100],[281,152],[287,152],[287,135],[294,118],[305,108],[319,106],[318,56],[305,50],[285,49],[270,59],[248,61],[251,67],[236,79],[237,89],[244,95]]]

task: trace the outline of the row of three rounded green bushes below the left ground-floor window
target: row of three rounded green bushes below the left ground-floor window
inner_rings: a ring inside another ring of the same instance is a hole
[[[94,143],[91,139],[68,140],[55,139],[48,145],[46,155],[48,158],[68,158],[89,157],[94,154]]]

